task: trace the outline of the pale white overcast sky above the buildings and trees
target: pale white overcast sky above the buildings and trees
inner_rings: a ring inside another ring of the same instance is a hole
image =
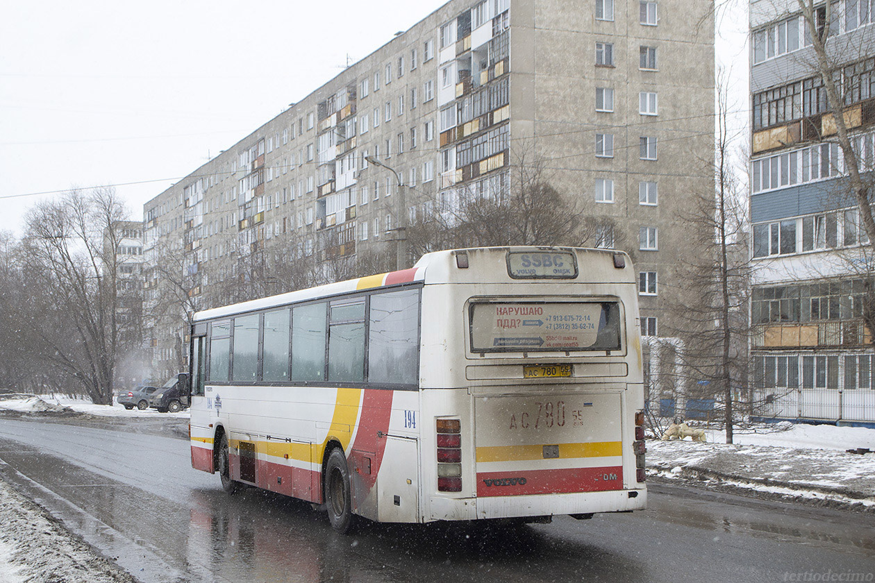
[[[746,2],[732,2],[718,53],[739,91]],[[4,3],[0,230],[20,235],[29,206],[74,186],[113,184],[142,219],[147,200],[330,80],[347,55],[367,56],[443,4]]]

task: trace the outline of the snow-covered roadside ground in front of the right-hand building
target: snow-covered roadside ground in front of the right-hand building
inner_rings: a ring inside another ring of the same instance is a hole
[[[708,442],[648,441],[648,475],[704,482],[785,499],[875,511],[875,429],[762,425],[734,435],[707,431]]]

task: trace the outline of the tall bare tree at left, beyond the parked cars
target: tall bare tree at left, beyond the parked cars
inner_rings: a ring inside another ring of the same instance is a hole
[[[139,348],[116,257],[125,213],[112,189],[70,191],[31,209],[23,239],[39,354],[103,405],[120,359]]]

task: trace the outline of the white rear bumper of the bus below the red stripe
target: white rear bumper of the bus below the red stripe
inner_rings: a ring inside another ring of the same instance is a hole
[[[643,488],[570,494],[455,499],[432,496],[430,499],[430,520],[480,520],[626,512],[644,510],[647,503],[648,491]]]

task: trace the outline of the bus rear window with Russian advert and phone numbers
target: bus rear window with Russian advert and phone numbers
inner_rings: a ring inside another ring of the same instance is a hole
[[[617,302],[476,302],[472,352],[620,350]]]

